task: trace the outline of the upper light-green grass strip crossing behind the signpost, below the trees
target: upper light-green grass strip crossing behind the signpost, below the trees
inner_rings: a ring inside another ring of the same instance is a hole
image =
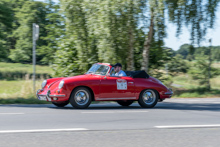
[[[1,71],[22,71],[26,73],[33,73],[33,66],[31,64],[0,62],[0,72]],[[53,70],[49,66],[36,65],[36,73],[52,74]]]

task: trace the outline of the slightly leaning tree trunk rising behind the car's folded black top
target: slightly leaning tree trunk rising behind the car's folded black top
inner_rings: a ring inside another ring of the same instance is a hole
[[[144,41],[144,49],[142,53],[143,61],[142,61],[141,70],[145,70],[146,72],[148,71],[148,66],[149,66],[149,54],[150,54],[151,42],[153,40],[153,31],[154,31],[153,29],[154,29],[154,14],[153,14],[153,10],[151,10],[151,21],[149,26],[149,32],[148,32],[148,36],[146,37],[146,40]]]

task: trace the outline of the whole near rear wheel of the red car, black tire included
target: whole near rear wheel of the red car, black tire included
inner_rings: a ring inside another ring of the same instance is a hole
[[[138,103],[143,108],[153,108],[159,99],[159,94],[156,90],[147,89],[141,92]]]

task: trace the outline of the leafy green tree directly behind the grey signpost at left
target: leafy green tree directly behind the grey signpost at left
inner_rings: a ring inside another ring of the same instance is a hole
[[[20,2],[20,1],[19,1]],[[18,9],[21,7],[20,9]],[[14,48],[10,49],[9,58],[14,62],[31,63],[32,61],[32,23],[40,26],[40,38],[37,41],[37,63],[51,62],[57,44],[62,34],[62,20],[59,6],[51,0],[47,3],[23,0],[15,9],[14,28],[12,38],[15,40]]]

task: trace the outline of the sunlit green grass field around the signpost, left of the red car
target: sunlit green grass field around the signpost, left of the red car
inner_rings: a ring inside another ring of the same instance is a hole
[[[33,81],[31,76],[26,74],[32,74],[33,66],[31,64],[21,64],[21,63],[5,63],[0,62],[0,75],[7,78],[5,80],[0,80],[0,104],[13,104],[13,103],[23,103],[23,104],[44,104],[47,102],[39,101],[35,92],[33,92]],[[16,75],[17,73],[17,75]],[[36,65],[36,73],[39,74],[52,74],[53,70],[49,66]],[[23,77],[10,77],[10,76],[25,75]],[[4,77],[0,77],[1,79]],[[45,77],[43,77],[45,78]],[[41,88],[41,80],[36,81],[36,90]],[[9,80],[16,79],[16,80]]]

